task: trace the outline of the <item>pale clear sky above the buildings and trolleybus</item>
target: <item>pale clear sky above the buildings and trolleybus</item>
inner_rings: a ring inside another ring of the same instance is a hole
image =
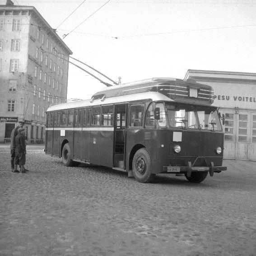
[[[13,1],[34,6],[61,38],[68,34],[74,58],[116,82],[184,79],[188,69],[256,73],[256,0]],[[68,99],[105,87],[69,65]]]

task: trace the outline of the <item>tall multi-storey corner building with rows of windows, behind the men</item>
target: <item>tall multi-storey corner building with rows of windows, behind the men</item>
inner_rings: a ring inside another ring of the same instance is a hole
[[[28,143],[44,143],[45,111],[66,101],[70,54],[33,6],[0,5],[0,143],[19,120]]]

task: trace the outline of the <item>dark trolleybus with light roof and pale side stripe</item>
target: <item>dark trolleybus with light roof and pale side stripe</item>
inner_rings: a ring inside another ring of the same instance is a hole
[[[202,182],[223,163],[223,129],[214,92],[193,80],[153,78],[115,85],[91,99],[47,109],[46,154],[127,172]]]

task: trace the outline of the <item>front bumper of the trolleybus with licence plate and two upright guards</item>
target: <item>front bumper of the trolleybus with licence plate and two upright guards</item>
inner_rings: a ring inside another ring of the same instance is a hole
[[[191,177],[192,172],[209,172],[210,176],[213,176],[214,172],[226,171],[225,166],[214,166],[211,162],[210,166],[193,166],[191,162],[188,162],[187,166],[163,166],[163,171],[167,173],[186,173],[187,177]]]

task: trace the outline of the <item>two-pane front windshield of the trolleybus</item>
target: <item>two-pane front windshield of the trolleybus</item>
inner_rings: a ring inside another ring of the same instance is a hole
[[[222,130],[217,109],[214,107],[167,103],[166,109],[167,120],[170,127],[217,131]],[[162,118],[164,116],[165,115],[160,115]],[[161,126],[161,119],[159,126]]]

